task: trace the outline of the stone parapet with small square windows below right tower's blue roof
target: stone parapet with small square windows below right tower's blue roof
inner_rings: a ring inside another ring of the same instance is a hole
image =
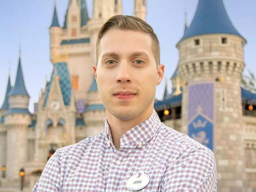
[[[180,76],[185,82],[199,77],[239,78],[245,66],[245,43],[240,36],[230,34],[208,34],[180,41]]]

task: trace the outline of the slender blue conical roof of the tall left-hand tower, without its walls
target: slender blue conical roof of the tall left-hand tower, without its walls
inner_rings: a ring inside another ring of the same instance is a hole
[[[19,63],[18,63],[18,70],[17,70],[15,84],[14,84],[14,87],[10,90],[8,96],[13,96],[13,95],[29,96],[29,94],[26,90],[25,83],[24,83],[20,58],[19,58]]]

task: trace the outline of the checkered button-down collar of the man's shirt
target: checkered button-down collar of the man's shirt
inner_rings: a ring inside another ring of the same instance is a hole
[[[160,118],[154,110],[147,120],[131,128],[121,137],[120,146],[136,145],[137,147],[142,147],[156,134],[160,124]],[[114,146],[107,119],[105,120],[104,137],[108,143],[108,147],[111,145]]]

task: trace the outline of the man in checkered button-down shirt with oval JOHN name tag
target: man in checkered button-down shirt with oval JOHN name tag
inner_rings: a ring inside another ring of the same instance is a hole
[[[217,191],[213,152],[162,124],[154,111],[164,65],[152,27],[113,16],[98,34],[96,56],[105,129],[58,149],[33,192]]]

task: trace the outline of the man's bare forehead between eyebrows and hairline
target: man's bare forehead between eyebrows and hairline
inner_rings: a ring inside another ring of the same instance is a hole
[[[134,30],[110,29],[99,44],[99,56],[106,52],[133,54],[146,52],[152,55],[152,39],[149,34]]]

